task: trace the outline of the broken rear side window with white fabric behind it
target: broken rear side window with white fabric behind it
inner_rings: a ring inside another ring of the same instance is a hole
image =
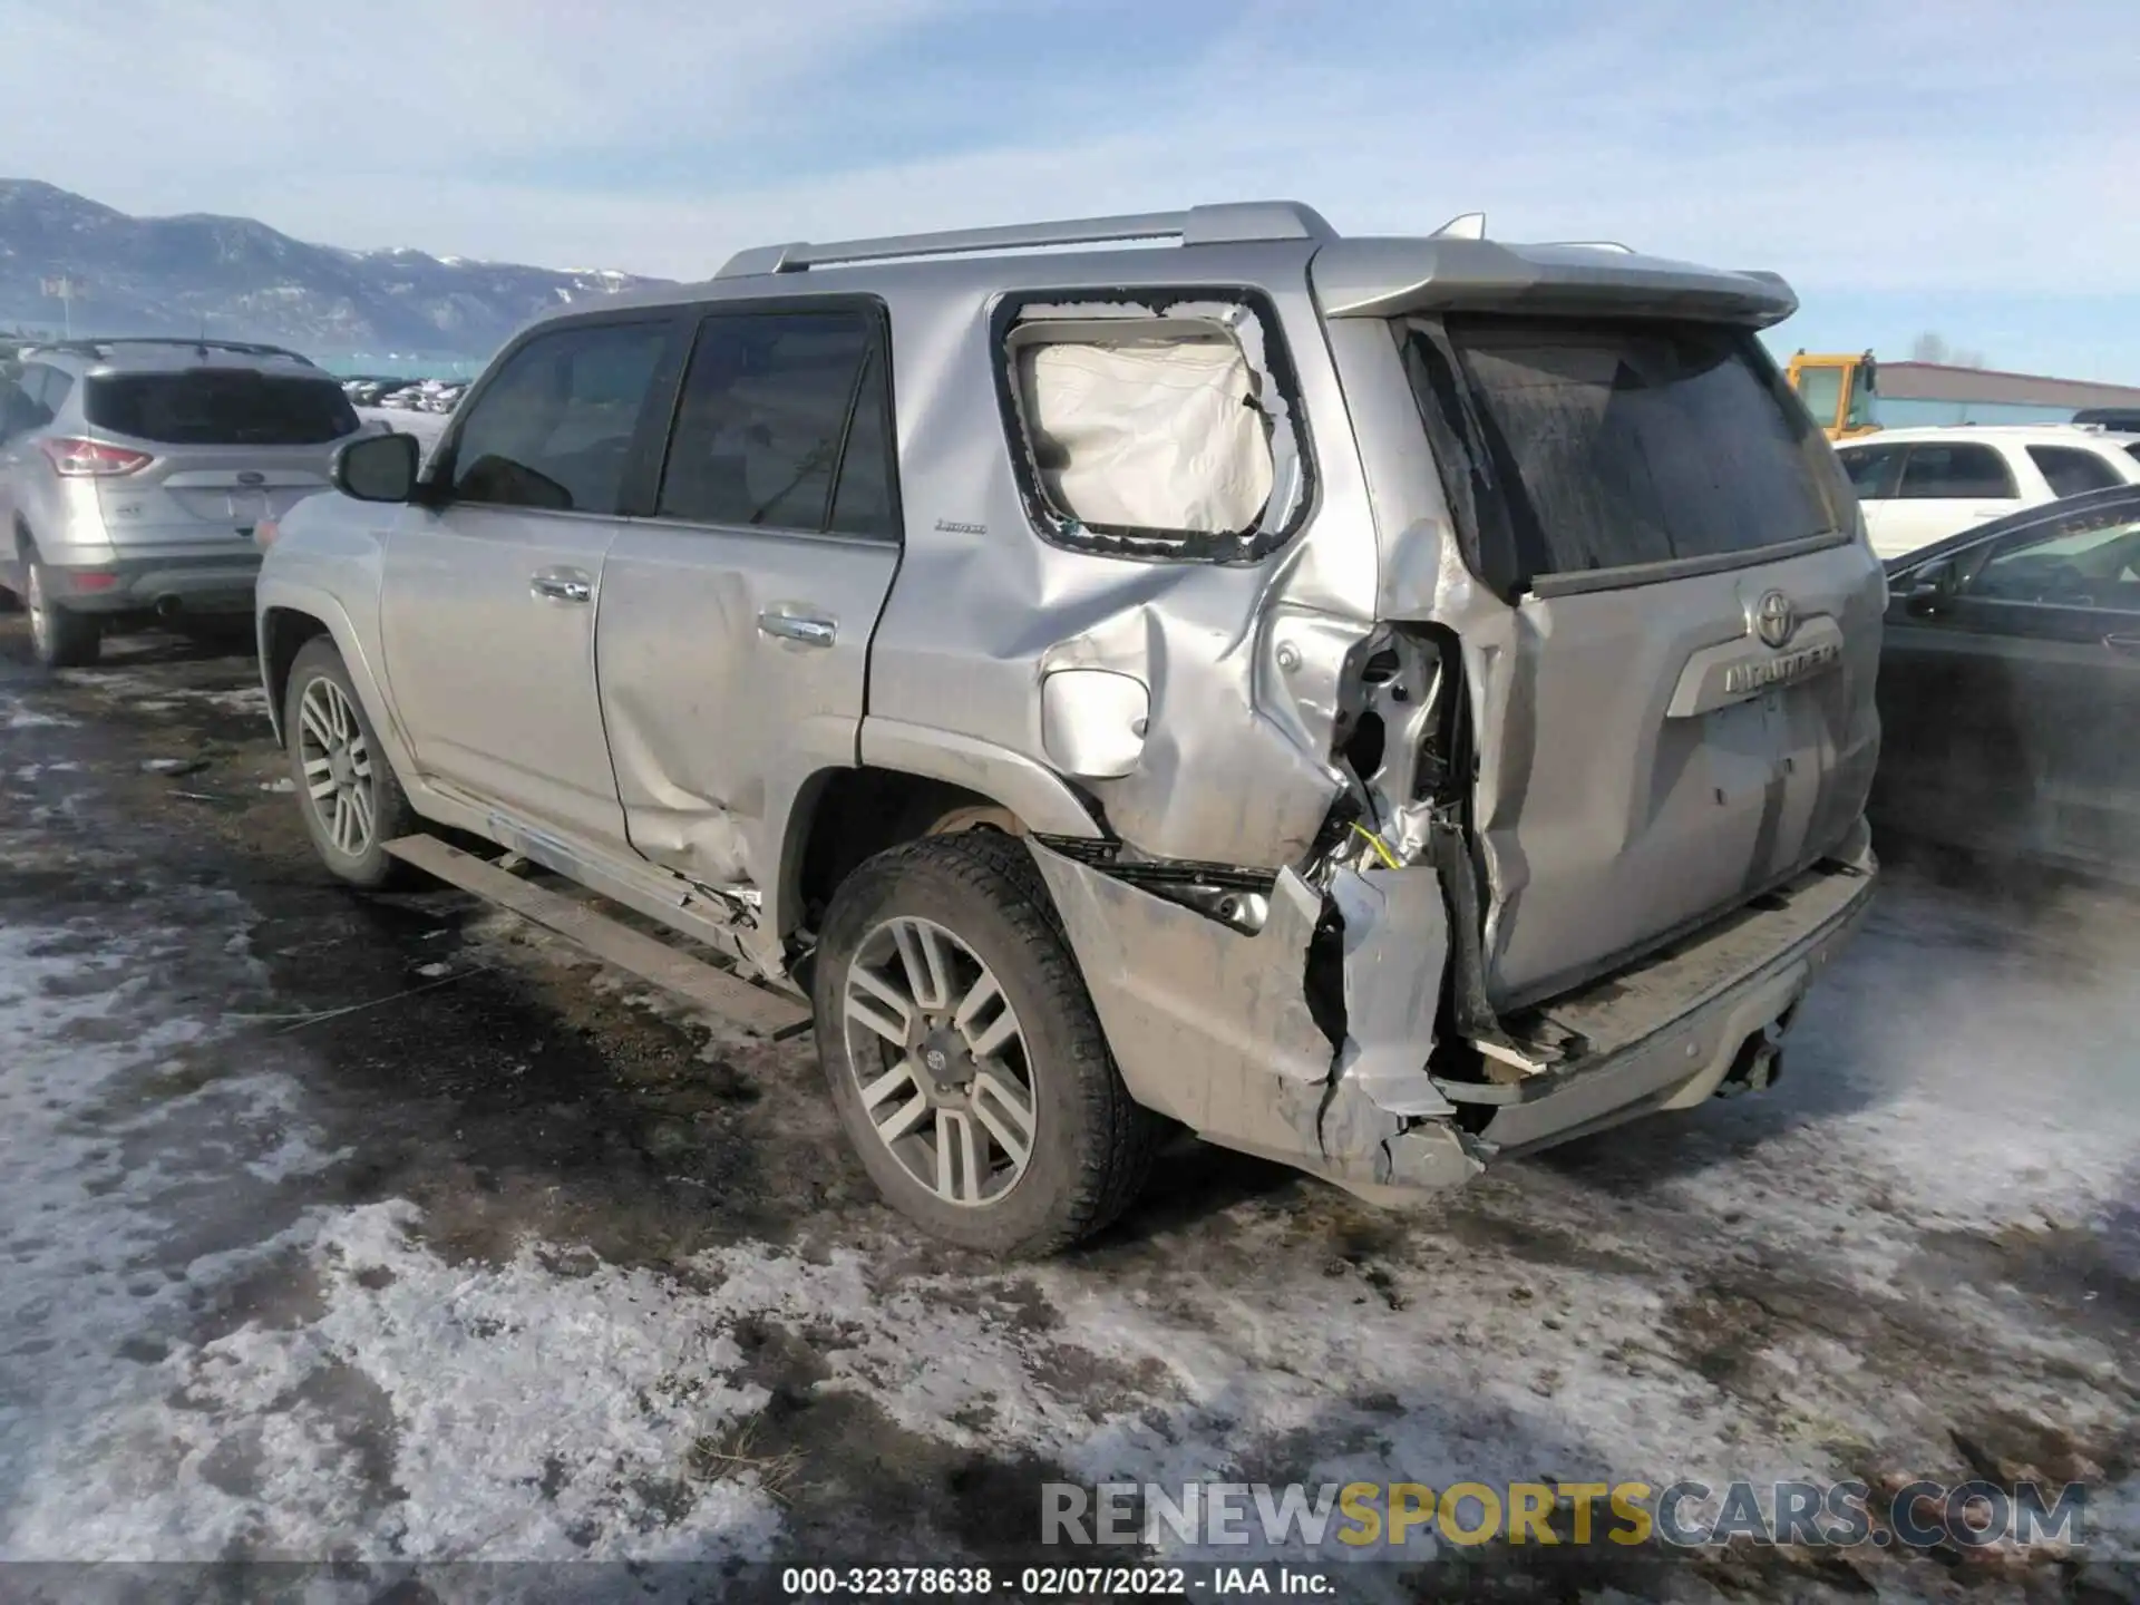
[[[1027,297],[995,330],[1019,488],[1044,539],[1233,563],[1299,529],[1305,430],[1260,297]]]

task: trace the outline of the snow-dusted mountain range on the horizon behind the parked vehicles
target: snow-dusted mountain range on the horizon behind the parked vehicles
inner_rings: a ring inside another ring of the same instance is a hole
[[[62,308],[47,293],[73,285]],[[210,334],[308,355],[484,357],[561,304],[657,278],[340,250],[253,218],[137,218],[36,180],[0,180],[0,330]]]

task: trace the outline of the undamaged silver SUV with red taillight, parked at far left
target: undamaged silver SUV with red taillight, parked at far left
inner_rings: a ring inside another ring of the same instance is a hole
[[[54,668],[139,612],[253,608],[253,531],[327,488],[362,432],[304,357],[229,340],[32,347],[0,381],[0,586]]]

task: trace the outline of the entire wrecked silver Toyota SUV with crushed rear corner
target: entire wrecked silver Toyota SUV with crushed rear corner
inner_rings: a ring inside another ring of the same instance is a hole
[[[1153,1117],[1387,1198],[1761,1087],[1875,875],[1885,591],[1793,306],[1248,203],[548,319],[280,526],[306,822],[807,995],[884,1196],[997,1252]]]

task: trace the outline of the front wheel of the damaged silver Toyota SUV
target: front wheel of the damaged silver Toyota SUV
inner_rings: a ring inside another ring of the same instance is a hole
[[[282,743],[297,809],[319,860],[336,880],[381,890],[407,875],[385,843],[417,828],[340,651],[315,636],[289,666]]]

